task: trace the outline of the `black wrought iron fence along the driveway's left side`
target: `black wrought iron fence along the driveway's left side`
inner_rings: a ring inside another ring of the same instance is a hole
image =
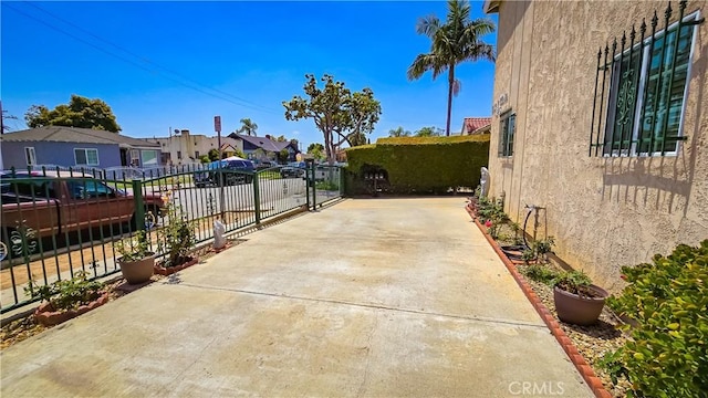
[[[137,230],[164,255],[158,242],[170,222],[167,206],[205,244],[217,219],[228,234],[341,197],[339,168],[302,171],[185,166],[108,178],[81,168],[9,170],[0,176],[0,312],[37,300],[24,291],[30,281],[50,284],[77,271],[93,279],[117,273],[114,243]]]

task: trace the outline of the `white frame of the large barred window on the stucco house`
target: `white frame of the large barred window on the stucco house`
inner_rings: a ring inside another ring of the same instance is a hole
[[[690,22],[690,21],[697,21],[700,19],[700,11],[696,11],[693,12],[688,15],[685,15],[684,19],[681,20],[681,23],[684,22]],[[604,157],[655,157],[655,156],[662,156],[660,151],[644,151],[644,153],[638,153],[636,154],[636,146],[637,146],[637,139],[639,138],[639,128],[642,128],[642,125],[644,124],[644,121],[641,118],[642,117],[642,108],[644,107],[644,92],[646,90],[646,82],[647,82],[647,67],[645,67],[647,62],[652,62],[650,56],[652,54],[649,54],[649,46],[652,43],[652,40],[654,40],[655,42],[657,40],[663,39],[667,32],[671,31],[673,29],[676,29],[676,27],[678,25],[678,21],[669,24],[666,29],[655,33],[654,38],[649,36],[644,39],[644,42],[642,43],[637,43],[635,44],[635,48],[638,45],[642,45],[642,63],[641,63],[641,72],[642,74],[639,75],[639,90],[637,91],[637,100],[636,100],[636,104],[635,104],[635,108],[634,108],[634,126],[632,129],[632,137],[631,140],[632,146],[628,148],[629,154],[626,154],[627,149],[623,149],[622,153],[620,149],[611,149],[611,151],[608,154],[604,154]],[[684,136],[684,121],[686,117],[686,106],[687,106],[687,101],[688,101],[688,86],[690,83],[690,77],[691,77],[691,66],[694,64],[694,56],[695,56],[695,52],[696,52],[696,40],[698,39],[698,25],[694,25],[693,27],[694,32],[693,32],[693,38],[690,40],[690,51],[688,54],[688,60],[687,60],[687,70],[686,70],[686,82],[684,85],[684,100],[681,102],[681,115],[680,115],[680,119],[678,122],[678,135],[677,137],[683,137]],[[676,32],[676,34],[680,35],[680,32]],[[666,43],[664,43],[664,45],[666,45]],[[627,49],[625,50],[624,53],[622,54],[617,54],[615,55],[615,61],[620,60],[622,56],[626,56],[631,51],[634,51],[635,48],[633,49]],[[613,71],[614,74],[614,71]],[[611,81],[612,84],[612,81]],[[613,103],[613,96],[614,98],[616,98],[617,96],[617,90],[614,90],[612,93],[612,95],[608,98],[608,104]],[[669,109],[667,109],[668,112]],[[610,114],[607,114],[607,117],[605,118],[605,122],[608,123],[610,118],[608,118]],[[646,117],[646,115],[645,115]],[[666,116],[668,117],[668,115]],[[614,125],[614,117],[613,117],[613,125]],[[605,132],[605,140],[607,139],[607,133]],[[678,154],[680,153],[680,147],[681,146],[681,140],[677,140],[676,142],[676,148],[674,150],[670,151],[665,151],[664,156],[678,156]],[[650,148],[649,148],[650,149]],[[603,149],[604,150],[604,149]],[[636,154],[636,155],[632,155],[632,154]]]

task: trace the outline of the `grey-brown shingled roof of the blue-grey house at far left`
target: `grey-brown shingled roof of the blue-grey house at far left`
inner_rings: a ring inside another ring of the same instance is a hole
[[[159,148],[156,143],[148,143],[143,139],[132,138],[117,133],[97,130],[91,128],[44,126],[30,128],[20,132],[6,133],[0,136],[3,143],[27,143],[27,142],[53,142],[53,143],[79,143],[79,144],[117,144],[123,148]]]

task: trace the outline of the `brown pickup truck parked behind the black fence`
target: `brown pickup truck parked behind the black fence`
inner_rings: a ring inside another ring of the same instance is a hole
[[[19,224],[34,230],[37,238],[63,235],[94,227],[132,222],[133,195],[91,175],[66,171],[18,172],[0,176],[2,240]],[[164,206],[157,193],[143,196],[145,212],[158,214]]]

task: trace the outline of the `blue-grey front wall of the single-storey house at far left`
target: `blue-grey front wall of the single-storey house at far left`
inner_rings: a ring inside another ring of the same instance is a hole
[[[98,149],[100,168],[121,166],[121,151],[117,144],[76,144],[55,142],[3,142],[2,166],[27,168],[24,147],[34,147],[38,165],[75,166],[74,148]]]

